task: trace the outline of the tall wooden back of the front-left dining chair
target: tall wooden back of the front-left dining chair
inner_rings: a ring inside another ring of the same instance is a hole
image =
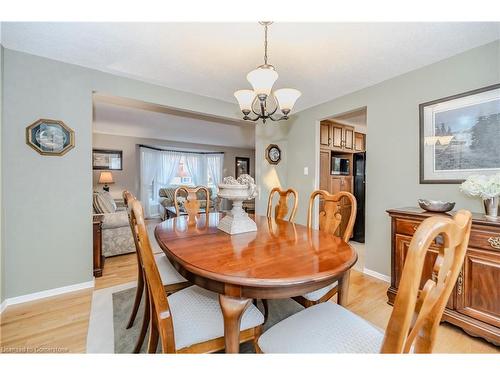
[[[138,238],[138,249],[146,278],[150,301],[151,323],[160,335],[163,353],[175,353],[174,327],[167,296],[163,288],[160,272],[156,265],[153,249],[144,223],[144,211],[138,200],[131,202],[129,213]],[[150,335],[150,340],[151,340]],[[148,343],[148,352],[154,352],[156,344]]]

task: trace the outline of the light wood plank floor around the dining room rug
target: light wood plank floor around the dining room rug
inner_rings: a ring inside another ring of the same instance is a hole
[[[108,288],[136,279],[135,254],[108,258],[95,289]],[[351,273],[348,308],[384,328],[391,307],[387,305],[388,284],[360,272]],[[0,318],[0,348],[3,352],[84,353],[92,289],[9,306]],[[443,323],[435,352],[499,353],[492,344]]]

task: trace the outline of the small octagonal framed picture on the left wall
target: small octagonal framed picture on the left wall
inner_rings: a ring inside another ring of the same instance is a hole
[[[75,147],[75,132],[62,121],[39,119],[26,128],[26,144],[41,155],[62,156]]]

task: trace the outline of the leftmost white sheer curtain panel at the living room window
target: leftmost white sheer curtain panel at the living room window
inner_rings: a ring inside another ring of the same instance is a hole
[[[145,217],[151,217],[154,210],[154,192],[151,192],[151,188],[160,166],[160,153],[145,147],[141,147],[140,150],[141,190],[139,197],[144,207]]]

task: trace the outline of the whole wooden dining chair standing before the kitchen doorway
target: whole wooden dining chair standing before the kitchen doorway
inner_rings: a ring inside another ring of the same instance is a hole
[[[319,197],[321,205],[319,212],[319,230],[337,236],[341,224],[345,225],[345,230],[342,239],[349,242],[356,221],[356,198],[354,195],[347,191],[341,191],[335,194],[330,194],[325,190],[313,191],[309,198],[309,209],[307,212],[307,227],[312,228],[312,212],[314,207],[314,200]],[[350,206],[350,207],[349,207]],[[346,271],[344,278],[349,280],[350,271]],[[335,294],[338,295],[340,300],[340,293],[347,293],[348,286],[346,285],[344,291],[339,291],[338,281],[327,285],[324,288],[306,293],[302,296],[294,297],[294,300],[304,307],[311,307],[328,301]],[[347,296],[346,296],[347,297]]]

